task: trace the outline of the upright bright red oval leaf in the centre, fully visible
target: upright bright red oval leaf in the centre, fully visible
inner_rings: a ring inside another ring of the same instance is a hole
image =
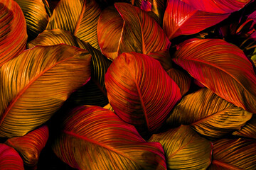
[[[181,98],[176,83],[153,58],[122,53],[105,75],[107,98],[122,120],[146,137],[157,132]]]

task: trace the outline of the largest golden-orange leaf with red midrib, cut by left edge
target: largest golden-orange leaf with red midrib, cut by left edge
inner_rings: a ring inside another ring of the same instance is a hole
[[[37,46],[1,67],[0,136],[22,136],[45,123],[90,79],[91,55],[69,45]]]

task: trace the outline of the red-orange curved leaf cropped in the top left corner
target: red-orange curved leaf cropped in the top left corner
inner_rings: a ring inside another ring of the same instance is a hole
[[[0,2],[0,67],[26,49],[26,21],[14,0]]]

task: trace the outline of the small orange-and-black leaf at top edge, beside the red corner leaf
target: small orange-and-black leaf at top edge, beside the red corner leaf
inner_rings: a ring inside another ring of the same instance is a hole
[[[31,40],[46,29],[48,13],[43,0],[15,0],[21,7],[27,24],[28,37]]]

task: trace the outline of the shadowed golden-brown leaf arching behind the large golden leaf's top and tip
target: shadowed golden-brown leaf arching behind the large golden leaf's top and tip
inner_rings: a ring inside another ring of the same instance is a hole
[[[105,73],[111,62],[99,50],[92,47],[89,43],[79,40],[69,31],[60,29],[43,31],[35,40],[28,43],[28,47],[58,45],[62,43],[88,50],[92,55],[92,79],[78,89],[78,91],[75,91],[70,96],[70,101],[79,106],[85,104],[105,106],[108,103],[105,89]]]

